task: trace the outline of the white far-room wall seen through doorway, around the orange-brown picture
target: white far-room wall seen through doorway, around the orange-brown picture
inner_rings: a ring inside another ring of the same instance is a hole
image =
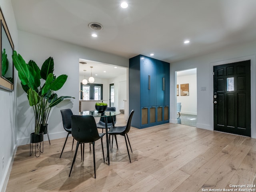
[[[188,96],[180,96],[180,84],[189,84]],[[178,76],[177,84],[179,85],[179,96],[177,96],[177,102],[181,102],[181,112],[183,114],[196,115],[197,108],[197,85],[196,85],[196,74],[195,75],[186,75]]]

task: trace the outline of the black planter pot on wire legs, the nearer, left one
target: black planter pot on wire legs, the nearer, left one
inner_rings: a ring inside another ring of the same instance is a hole
[[[35,156],[39,157],[40,154],[44,152],[44,132],[40,132],[39,134],[33,132],[30,134],[30,156],[33,153],[33,143],[35,144]],[[39,150],[39,155],[36,154],[36,150]]]

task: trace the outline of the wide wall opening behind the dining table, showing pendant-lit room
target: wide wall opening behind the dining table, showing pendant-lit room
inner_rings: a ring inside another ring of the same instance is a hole
[[[89,81],[91,76],[94,78],[94,82],[92,83]],[[81,98],[81,100],[86,100],[84,102],[80,102],[81,109],[95,110],[96,102],[107,103],[108,106],[116,107],[116,110],[118,111],[123,109],[123,106],[120,105],[119,101],[123,101],[124,98],[121,97],[122,95],[120,93],[126,93],[127,85],[125,83],[122,84],[122,86],[119,86],[119,83],[126,82],[127,78],[126,67],[114,66],[112,64],[80,58],[78,85],[79,90],[81,91],[79,91],[79,98]],[[87,84],[82,83],[84,79],[86,79]],[[84,87],[84,89],[82,89],[82,87]],[[88,89],[92,89],[91,95],[94,97],[86,95]],[[84,97],[82,97],[82,93]]]

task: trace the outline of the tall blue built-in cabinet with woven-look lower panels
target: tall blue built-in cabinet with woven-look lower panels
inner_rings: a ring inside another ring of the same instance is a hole
[[[132,126],[145,128],[169,122],[170,64],[138,55],[129,60],[129,110]]]

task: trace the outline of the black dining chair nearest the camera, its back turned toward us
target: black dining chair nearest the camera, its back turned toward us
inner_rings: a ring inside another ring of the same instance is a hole
[[[74,162],[76,160],[76,154],[77,154],[79,144],[91,143],[92,149],[93,149],[94,178],[96,178],[95,147],[94,146],[95,146],[95,141],[100,139],[101,146],[102,146],[103,160],[105,162],[103,142],[102,142],[102,137],[105,135],[105,133],[98,133],[95,119],[91,115],[84,115],[84,116],[72,115],[71,122],[72,122],[71,123],[72,124],[71,133],[72,133],[73,138],[77,141],[77,144],[76,144],[76,152],[75,152],[72,166],[70,169],[69,177],[70,177],[72,168],[74,166]],[[84,148],[83,148],[82,160],[84,161]]]

